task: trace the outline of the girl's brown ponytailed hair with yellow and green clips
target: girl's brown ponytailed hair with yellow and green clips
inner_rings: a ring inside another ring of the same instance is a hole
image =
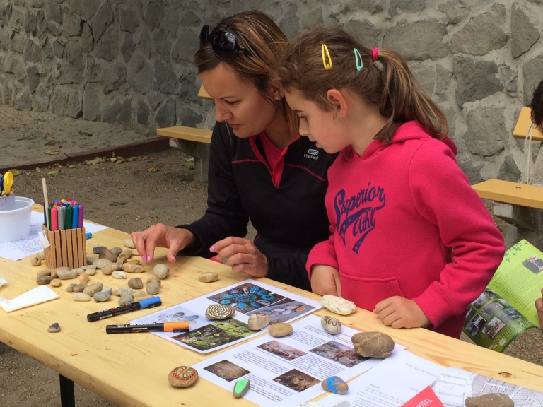
[[[322,57],[325,44],[332,68],[325,69]],[[362,58],[363,67],[356,69],[354,49]],[[388,120],[375,135],[390,143],[397,127],[417,120],[434,137],[442,139],[449,126],[445,114],[411,75],[407,61],[397,52],[378,51],[380,69],[372,59],[372,50],[364,47],[341,28],[318,26],[302,35],[281,57],[276,76],[286,90],[296,89],[307,100],[330,110],[327,91],[349,89],[362,100],[377,105]]]

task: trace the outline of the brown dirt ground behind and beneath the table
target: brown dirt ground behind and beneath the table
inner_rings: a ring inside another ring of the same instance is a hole
[[[51,154],[47,151],[52,149],[59,151],[60,157],[93,146],[120,146],[141,138],[146,138],[143,132],[125,131],[116,124],[57,118],[0,105],[0,141],[9,146],[0,149],[0,167],[16,168],[49,160]],[[194,182],[190,165],[189,157],[174,149],[136,158],[117,157],[115,163],[105,157],[95,165],[71,163],[21,171],[14,188],[18,196],[42,202],[41,178],[46,177],[50,200],[77,199],[85,205],[89,220],[132,232],[158,222],[176,225],[202,216],[207,185]],[[503,230],[503,223],[496,223]],[[505,353],[543,365],[543,334],[531,329],[513,341]],[[76,405],[113,406],[77,384]],[[0,406],[60,406],[58,374],[0,343]]]

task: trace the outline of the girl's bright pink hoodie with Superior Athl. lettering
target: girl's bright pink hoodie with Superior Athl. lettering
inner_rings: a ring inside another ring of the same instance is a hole
[[[459,338],[505,247],[448,145],[407,122],[389,146],[373,141],[361,157],[344,148],[328,181],[332,236],[311,250],[308,273],[313,264],[338,269],[343,297],[369,311],[410,298],[433,329]]]

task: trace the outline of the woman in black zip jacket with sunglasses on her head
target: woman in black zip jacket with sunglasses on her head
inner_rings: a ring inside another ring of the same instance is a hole
[[[310,290],[305,261],[329,235],[324,201],[336,155],[299,136],[296,114],[270,79],[286,47],[285,35],[258,11],[202,28],[194,62],[217,119],[208,208],[190,225],[133,232],[145,261],[155,247],[169,247],[171,262],[176,254],[217,254],[233,271]],[[248,220],[257,230],[254,242],[243,238]]]

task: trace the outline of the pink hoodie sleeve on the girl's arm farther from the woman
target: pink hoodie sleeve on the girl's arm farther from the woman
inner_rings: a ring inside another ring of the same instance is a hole
[[[438,225],[443,244],[452,249],[452,263],[439,280],[413,298],[438,326],[466,312],[486,288],[503,259],[503,237],[444,145],[428,142],[419,148],[409,167],[409,187],[416,210]]]

